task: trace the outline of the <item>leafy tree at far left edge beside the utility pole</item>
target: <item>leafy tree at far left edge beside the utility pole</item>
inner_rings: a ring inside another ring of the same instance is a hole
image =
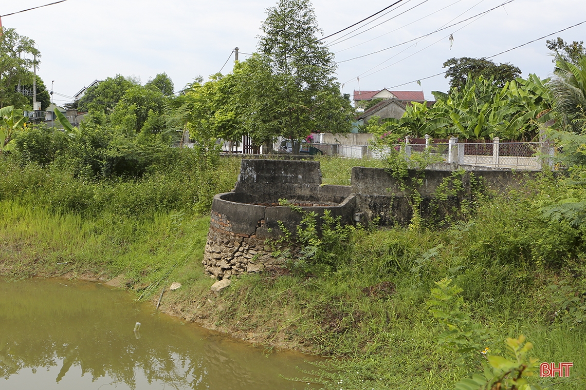
[[[2,28],[2,27],[0,27]],[[18,85],[33,84],[33,63],[39,64],[40,51],[35,41],[2,28],[0,35],[0,108],[8,105],[22,107],[28,98],[17,91]],[[32,89],[32,88],[31,88]]]

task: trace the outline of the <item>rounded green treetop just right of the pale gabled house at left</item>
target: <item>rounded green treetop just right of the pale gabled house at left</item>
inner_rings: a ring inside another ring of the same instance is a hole
[[[79,111],[101,111],[110,112],[120,101],[122,96],[130,89],[138,85],[138,82],[131,78],[117,74],[115,77],[108,77],[99,84],[87,89],[77,103]]]

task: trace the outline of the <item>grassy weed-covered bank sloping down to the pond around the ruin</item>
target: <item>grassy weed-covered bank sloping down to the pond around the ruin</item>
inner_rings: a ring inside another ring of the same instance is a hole
[[[331,184],[348,184],[352,165],[369,164],[321,160]],[[182,168],[109,182],[0,164],[6,277],[125,274],[137,296],[155,301],[163,285],[182,282],[164,296],[165,310],[267,346],[342,357],[321,371],[332,389],[453,388],[469,369],[438,344],[441,327],[425,305],[434,281],[450,277],[489,330],[487,346],[524,334],[533,356],[574,363],[571,378],[544,384],[586,385],[583,232],[540,217],[541,206],[567,198],[553,178],[487,197],[449,229],[357,230],[333,249],[328,274],[251,275],[215,296],[200,264],[206,208],[233,187],[239,160],[221,160],[212,174]]]

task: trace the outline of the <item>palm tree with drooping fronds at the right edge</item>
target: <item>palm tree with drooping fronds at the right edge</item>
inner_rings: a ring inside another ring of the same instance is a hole
[[[557,54],[554,76],[547,85],[554,96],[560,129],[583,132],[586,129],[586,57],[573,64]]]

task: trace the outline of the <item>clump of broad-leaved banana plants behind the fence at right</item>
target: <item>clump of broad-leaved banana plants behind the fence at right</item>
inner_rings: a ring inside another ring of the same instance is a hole
[[[389,131],[445,139],[531,140],[541,124],[552,118],[548,80],[529,75],[507,81],[502,87],[492,78],[471,78],[449,94],[434,92],[432,108],[423,103],[407,106],[403,118],[390,121]]]

